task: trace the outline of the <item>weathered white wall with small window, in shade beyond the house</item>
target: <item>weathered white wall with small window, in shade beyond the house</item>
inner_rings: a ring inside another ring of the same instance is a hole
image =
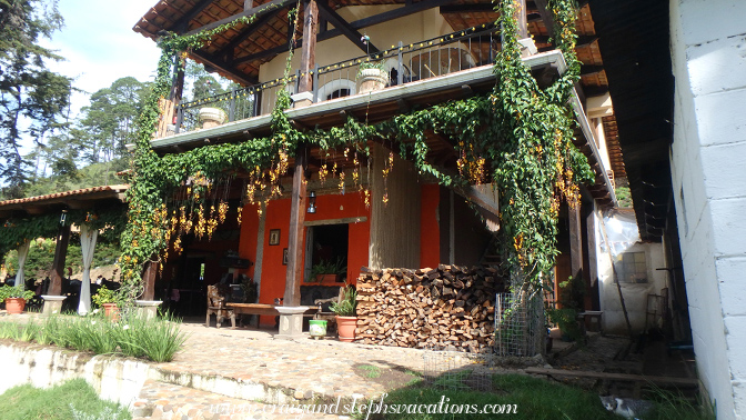
[[[628,334],[627,322],[622,310],[622,301],[619,299],[619,291],[614,282],[614,272],[612,271],[612,258],[609,258],[609,250],[605,243],[605,232],[603,231],[603,223],[601,213],[594,212],[595,228],[596,228],[596,263],[598,269],[598,298],[601,310],[604,311],[602,316],[602,326],[604,332],[615,334]],[[618,218],[617,219],[623,219]],[[636,229],[636,221],[634,213],[627,218]],[[637,237],[639,239],[639,237]],[[617,248],[618,249],[618,248]],[[631,244],[624,250],[625,252],[645,252],[645,262],[647,266],[647,282],[646,283],[625,283],[622,282],[622,296],[629,317],[633,333],[642,333],[645,331],[645,319],[647,314],[647,296],[661,294],[661,291],[667,287],[666,271],[656,270],[657,268],[665,268],[666,261],[663,252],[663,244],[661,243],[642,243],[637,242]],[[651,322],[653,318],[651,319]],[[648,324],[651,327],[662,327],[658,324]]]

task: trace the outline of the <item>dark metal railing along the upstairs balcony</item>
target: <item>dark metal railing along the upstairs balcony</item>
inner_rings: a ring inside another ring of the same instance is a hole
[[[370,56],[316,66],[311,71],[313,101],[322,102],[357,93],[357,74],[362,63],[380,63],[389,74],[387,86],[391,87],[492,64],[498,47],[498,28],[483,24],[420,42],[400,42],[399,46]],[[175,131],[203,128],[199,113],[205,107],[221,109],[229,122],[268,114],[274,108],[280,89],[288,89],[291,93],[298,91],[300,77],[298,71],[288,80],[275,79],[179,104]]]

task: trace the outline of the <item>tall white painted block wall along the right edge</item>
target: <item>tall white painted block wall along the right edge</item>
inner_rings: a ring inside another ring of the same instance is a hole
[[[746,2],[672,0],[672,179],[697,369],[746,417]]]

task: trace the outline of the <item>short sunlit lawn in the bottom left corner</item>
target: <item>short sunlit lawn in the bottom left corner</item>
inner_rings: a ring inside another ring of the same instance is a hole
[[[49,389],[30,384],[14,387],[0,396],[3,419],[23,420],[130,420],[127,408],[103,401],[83,379]]]

